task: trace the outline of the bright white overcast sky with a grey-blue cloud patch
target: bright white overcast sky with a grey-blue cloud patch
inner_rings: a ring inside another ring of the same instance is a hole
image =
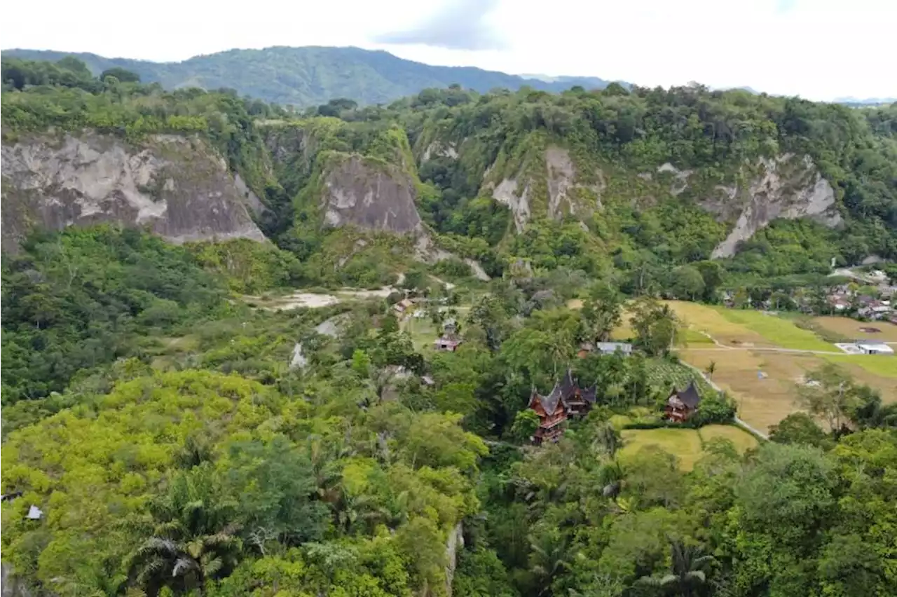
[[[8,5],[6,5],[8,4]],[[690,81],[809,99],[897,97],[897,0],[37,0],[0,48],[157,61],[230,48],[358,46],[433,65]]]

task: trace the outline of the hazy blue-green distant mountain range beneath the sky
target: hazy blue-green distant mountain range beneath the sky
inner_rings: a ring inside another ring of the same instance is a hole
[[[517,90],[525,85],[540,91],[565,91],[575,85],[603,89],[608,83],[597,77],[527,78],[468,66],[431,66],[361,48],[233,49],[178,63],[51,50],[11,49],[0,54],[50,61],[75,56],[94,74],[120,66],[139,74],[143,82],[160,82],[167,89],[230,87],[242,95],[298,107],[335,98],[350,98],[361,104],[388,103],[452,83],[480,92]]]

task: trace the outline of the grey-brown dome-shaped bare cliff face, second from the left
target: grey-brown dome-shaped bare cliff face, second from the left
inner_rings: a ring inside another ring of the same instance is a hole
[[[357,226],[408,234],[422,229],[411,177],[360,156],[340,161],[325,178],[322,207],[328,226]]]

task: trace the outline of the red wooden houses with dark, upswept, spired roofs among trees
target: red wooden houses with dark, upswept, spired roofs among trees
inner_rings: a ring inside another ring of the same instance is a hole
[[[530,437],[536,446],[544,442],[556,442],[566,428],[567,421],[579,419],[588,414],[597,401],[597,385],[581,385],[568,369],[560,382],[548,394],[539,394],[536,389],[530,394],[527,408],[536,412],[539,427]],[[692,418],[701,405],[701,393],[692,381],[683,391],[673,388],[666,399],[666,420],[682,423]]]

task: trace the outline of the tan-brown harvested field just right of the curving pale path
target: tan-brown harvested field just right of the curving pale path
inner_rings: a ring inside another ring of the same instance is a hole
[[[814,355],[754,350],[682,350],[679,357],[701,370],[715,362],[713,381],[735,398],[738,416],[760,430],[799,410],[797,384],[823,364]]]

